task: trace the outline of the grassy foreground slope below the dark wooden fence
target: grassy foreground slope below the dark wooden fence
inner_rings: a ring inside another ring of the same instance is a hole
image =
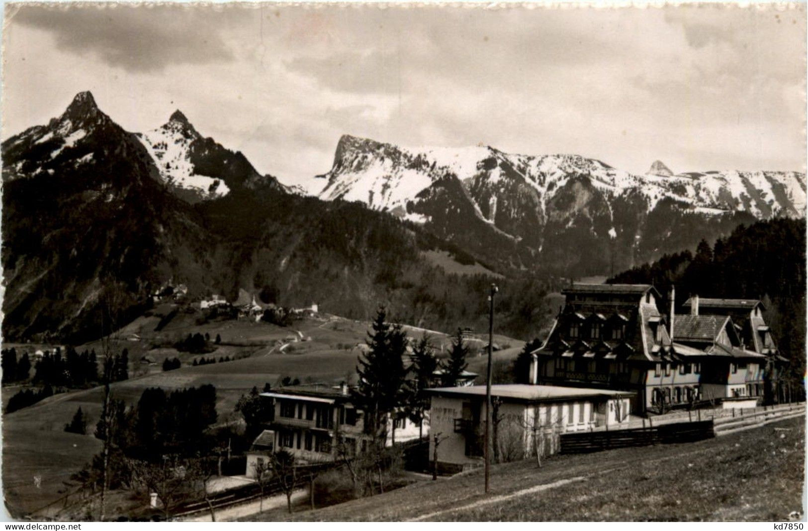
[[[266,520],[789,520],[802,512],[805,419],[680,445],[555,456]]]

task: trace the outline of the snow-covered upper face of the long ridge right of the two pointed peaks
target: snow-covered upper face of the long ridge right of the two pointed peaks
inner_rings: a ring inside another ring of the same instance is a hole
[[[318,196],[326,200],[343,197],[362,201],[374,209],[393,209],[406,205],[407,200],[447,171],[464,183],[483,176],[488,184],[496,185],[507,179],[501,166],[504,163],[539,193],[545,210],[553,192],[575,175],[587,177],[595,188],[608,196],[638,192],[646,198],[648,209],[654,209],[666,198],[687,204],[693,211],[709,214],[747,210],[756,217],[766,217],[781,210],[791,211],[792,206],[799,213],[806,208],[805,175],[797,172],[639,175],[579,154],[507,154],[482,145],[461,148],[384,146],[384,150],[346,150],[342,154],[343,167],[327,174],[330,179]],[[497,165],[483,170],[482,162],[489,158],[495,158]],[[778,196],[772,189],[771,179],[782,184],[791,204],[781,204],[784,194],[778,192]]]

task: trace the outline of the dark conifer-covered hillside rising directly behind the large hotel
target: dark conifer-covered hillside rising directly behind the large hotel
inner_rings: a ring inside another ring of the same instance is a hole
[[[665,255],[608,280],[654,284],[667,297],[676,287],[677,312],[689,295],[760,298],[789,376],[802,382],[806,367],[806,221],[773,219],[739,225],[711,247]],[[667,301],[666,301],[667,307]]]

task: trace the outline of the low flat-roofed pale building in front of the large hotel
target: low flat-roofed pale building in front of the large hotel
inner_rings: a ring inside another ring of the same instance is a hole
[[[535,361],[534,364],[536,365]],[[532,374],[535,375],[535,367]],[[429,455],[435,453],[442,470],[477,466],[483,457],[486,419],[486,386],[444,387],[427,390],[431,395]],[[544,440],[544,453],[554,453],[554,442],[563,432],[578,432],[601,426],[620,428],[628,422],[633,393],[534,384],[491,386],[494,404],[491,418],[496,426],[492,440],[500,453],[524,458],[537,451]]]

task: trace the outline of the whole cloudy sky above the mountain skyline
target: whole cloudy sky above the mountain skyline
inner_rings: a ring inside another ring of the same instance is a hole
[[[803,170],[805,28],[804,5],[7,7],[2,134],[90,90],[131,131],[179,108],[288,183],[328,171],[343,133]]]

